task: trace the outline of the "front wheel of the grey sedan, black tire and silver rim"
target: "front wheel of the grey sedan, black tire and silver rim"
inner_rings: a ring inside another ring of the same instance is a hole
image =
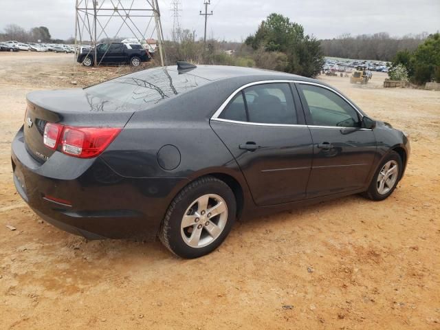
[[[388,169],[386,169],[387,165],[389,165]],[[388,179],[386,179],[386,175],[384,176],[384,171],[389,172],[393,166],[397,166],[397,170],[393,172],[393,175],[388,175]],[[380,162],[379,166],[377,166],[377,170],[375,171],[373,179],[371,180],[369,189],[363,194],[364,197],[373,201],[383,201],[384,199],[388,198],[388,196],[393,193],[397,184],[399,183],[402,170],[403,164],[399,154],[395,151],[388,153],[388,155],[382,159],[382,162]],[[381,186],[381,181],[384,181],[383,186]],[[383,187],[383,189],[381,189],[381,187]]]

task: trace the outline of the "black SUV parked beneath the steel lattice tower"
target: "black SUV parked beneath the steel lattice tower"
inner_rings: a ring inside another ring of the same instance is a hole
[[[135,46],[133,44],[133,46]],[[100,43],[97,46],[97,61],[102,64],[131,64],[139,66],[142,62],[150,61],[148,52],[141,47],[127,46],[126,43]],[[85,67],[94,65],[94,49],[83,50],[76,60]]]

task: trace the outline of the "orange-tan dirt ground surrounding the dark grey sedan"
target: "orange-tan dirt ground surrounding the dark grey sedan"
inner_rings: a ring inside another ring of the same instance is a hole
[[[15,192],[10,142],[25,94],[127,70],[73,63],[0,53],[0,329],[440,329],[438,91],[383,89],[378,73],[366,86],[321,77],[410,133],[394,194],[239,222],[216,252],[181,260],[159,241],[67,234]]]

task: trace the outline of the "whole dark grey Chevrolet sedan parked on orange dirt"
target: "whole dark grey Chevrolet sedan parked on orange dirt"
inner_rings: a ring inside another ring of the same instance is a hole
[[[195,258],[236,218],[380,201],[404,175],[408,135],[320,80],[178,64],[28,94],[12,169],[40,217],[87,239],[158,235]]]

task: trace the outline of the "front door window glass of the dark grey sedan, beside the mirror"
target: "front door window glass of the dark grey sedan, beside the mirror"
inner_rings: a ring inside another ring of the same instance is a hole
[[[318,126],[358,127],[358,113],[338,94],[314,85],[298,85],[309,107],[310,124]]]

